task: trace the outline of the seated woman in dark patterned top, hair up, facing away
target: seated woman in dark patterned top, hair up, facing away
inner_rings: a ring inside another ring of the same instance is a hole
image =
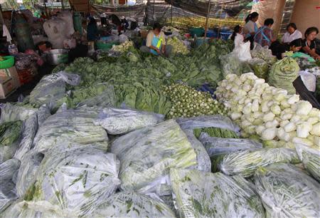
[[[265,25],[258,28],[257,32],[255,33],[255,42],[259,43],[262,47],[270,47],[271,43],[276,41],[276,37],[274,36],[274,33],[271,28],[273,23],[273,19],[266,19]]]

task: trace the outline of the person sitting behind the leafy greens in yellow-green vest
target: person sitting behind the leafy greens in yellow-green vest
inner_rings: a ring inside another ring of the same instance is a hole
[[[160,24],[155,23],[153,30],[149,31],[148,36],[146,36],[146,46],[142,46],[140,51],[152,53],[155,56],[169,56],[171,50],[172,47],[166,45],[166,37],[164,32],[161,31]]]

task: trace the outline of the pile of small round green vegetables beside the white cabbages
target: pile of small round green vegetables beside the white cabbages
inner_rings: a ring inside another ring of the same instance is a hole
[[[174,84],[164,88],[164,93],[171,100],[169,118],[190,118],[201,115],[224,115],[227,110],[218,100],[213,100],[210,93],[197,91],[187,85]]]

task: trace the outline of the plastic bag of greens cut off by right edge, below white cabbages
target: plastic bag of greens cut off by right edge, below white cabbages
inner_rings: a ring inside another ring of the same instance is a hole
[[[306,145],[296,145],[299,159],[301,160],[304,168],[311,175],[320,182],[320,150],[319,147],[309,147]]]

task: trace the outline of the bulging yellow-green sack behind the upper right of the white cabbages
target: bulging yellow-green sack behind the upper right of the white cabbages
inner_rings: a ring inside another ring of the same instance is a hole
[[[289,94],[295,94],[293,82],[299,76],[299,65],[294,58],[283,58],[272,65],[268,83],[277,88],[283,88]]]

